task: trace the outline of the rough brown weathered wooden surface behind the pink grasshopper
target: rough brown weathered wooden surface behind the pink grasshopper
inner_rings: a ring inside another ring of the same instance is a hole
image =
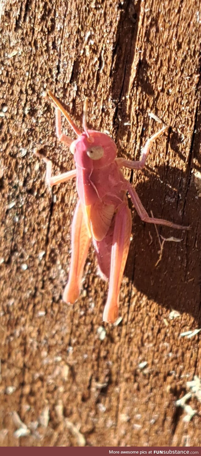
[[[0,16],[0,444],[77,446],[67,419],[88,446],[199,446],[201,404],[188,401],[198,413],[186,423],[175,400],[201,377],[201,333],[180,337],[201,327],[201,2],[4,0]],[[149,214],[191,231],[159,227],[182,240],[165,242],[155,266],[155,227],[129,201],[133,240],[117,327],[102,324],[107,284],[92,250],[81,299],[61,300],[77,192],[67,182],[51,193],[33,153],[50,157],[55,173],[72,169],[47,88],[78,125],[88,95],[90,127],[107,130],[119,156],[139,159],[160,128],[149,113],[170,126],[145,170],[125,176]],[[180,317],[170,320],[171,310]],[[14,435],[14,411],[30,435]]]

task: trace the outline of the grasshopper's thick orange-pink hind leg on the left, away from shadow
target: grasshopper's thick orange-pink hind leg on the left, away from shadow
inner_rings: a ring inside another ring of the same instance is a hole
[[[80,295],[82,272],[91,238],[84,220],[82,205],[78,201],[72,221],[72,254],[68,283],[63,292],[63,301],[73,304]]]

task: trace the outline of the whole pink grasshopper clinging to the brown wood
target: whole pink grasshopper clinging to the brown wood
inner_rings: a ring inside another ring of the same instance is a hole
[[[166,130],[163,126],[146,142],[140,161],[117,158],[117,147],[106,134],[87,128],[87,100],[83,110],[83,133],[77,128],[59,100],[48,91],[56,110],[56,133],[59,141],[70,147],[76,169],[52,176],[52,161],[40,155],[46,163],[46,183],[49,186],[77,181],[79,200],[72,222],[72,256],[68,282],[63,300],[73,304],[80,295],[82,272],[91,240],[96,250],[99,273],[109,280],[108,298],[103,311],[103,321],[113,323],[119,311],[119,292],[129,252],[131,213],[128,207],[129,192],[139,217],[144,222],[187,229],[160,218],[150,218],[132,185],[121,171],[123,166],[141,170],[150,146]],[[76,140],[62,134],[61,113],[65,116]]]

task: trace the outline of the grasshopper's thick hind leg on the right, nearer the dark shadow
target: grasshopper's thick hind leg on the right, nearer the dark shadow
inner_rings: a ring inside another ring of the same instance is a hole
[[[108,323],[114,323],[119,312],[119,292],[129,253],[131,227],[131,213],[124,202],[116,214],[113,232],[108,299],[103,311],[103,321]]]

